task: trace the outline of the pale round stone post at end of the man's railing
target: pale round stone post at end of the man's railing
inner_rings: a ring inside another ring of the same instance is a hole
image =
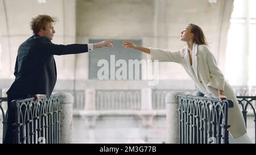
[[[73,102],[71,93],[60,92],[60,143],[72,143]]]

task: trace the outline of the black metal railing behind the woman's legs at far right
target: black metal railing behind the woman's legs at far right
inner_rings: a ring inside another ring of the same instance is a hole
[[[246,128],[247,128],[247,115],[249,112],[250,116],[254,117],[254,135],[256,137],[256,112],[255,112],[255,106],[256,106],[256,96],[238,96],[237,97],[238,103],[240,104],[243,119],[245,120]],[[254,104],[254,105],[253,105]],[[254,141],[256,144],[256,139]]]

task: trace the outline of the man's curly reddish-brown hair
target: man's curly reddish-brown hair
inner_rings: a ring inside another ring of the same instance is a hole
[[[31,19],[30,28],[34,34],[37,34],[40,30],[46,30],[46,25],[48,23],[57,22],[56,17],[52,17],[49,15],[38,15],[35,18]]]

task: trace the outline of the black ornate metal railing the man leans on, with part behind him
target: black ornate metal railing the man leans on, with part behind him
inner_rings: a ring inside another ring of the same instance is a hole
[[[42,95],[36,102],[34,98],[13,100],[11,104],[15,108],[15,143],[60,143],[60,95],[52,95],[49,99]],[[2,106],[0,108],[5,129],[6,114]],[[3,131],[4,139],[5,130]]]

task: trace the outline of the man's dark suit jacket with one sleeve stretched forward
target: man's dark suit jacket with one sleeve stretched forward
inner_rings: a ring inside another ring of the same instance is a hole
[[[57,80],[53,55],[88,52],[87,44],[57,45],[48,37],[34,35],[19,46],[15,64],[15,81],[7,94],[46,94],[49,98]]]

